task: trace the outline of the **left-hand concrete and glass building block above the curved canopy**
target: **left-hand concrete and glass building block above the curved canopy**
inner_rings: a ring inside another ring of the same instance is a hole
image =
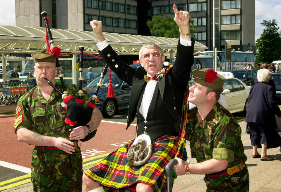
[[[104,32],[138,33],[136,0],[16,0],[15,6],[17,26],[44,27],[46,11],[51,28],[92,31],[95,19]]]

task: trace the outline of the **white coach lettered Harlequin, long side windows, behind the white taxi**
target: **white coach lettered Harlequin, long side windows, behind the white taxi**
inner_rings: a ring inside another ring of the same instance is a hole
[[[213,51],[202,51],[198,53],[198,56],[213,56]],[[222,69],[225,69],[225,52],[217,51],[217,56],[220,59],[220,65]],[[231,65],[230,65],[231,62]],[[254,66],[254,54],[251,52],[234,51],[231,52],[231,60],[226,62],[226,70],[243,69],[244,65],[249,64]]]

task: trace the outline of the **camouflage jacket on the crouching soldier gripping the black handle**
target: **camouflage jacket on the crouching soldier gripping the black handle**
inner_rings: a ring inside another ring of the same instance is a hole
[[[227,168],[247,160],[241,141],[241,127],[233,115],[218,102],[200,124],[197,107],[190,111],[186,140],[192,158],[203,162],[212,158],[229,161]]]

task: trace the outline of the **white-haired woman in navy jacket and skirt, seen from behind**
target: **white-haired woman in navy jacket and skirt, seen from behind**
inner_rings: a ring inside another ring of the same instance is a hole
[[[275,114],[281,117],[281,111],[275,102],[273,87],[268,85],[269,70],[258,70],[258,84],[251,87],[248,97],[246,122],[250,130],[253,146],[253,158],[262,161],[275,160],[266,154],[267,148],[281,146],[281,137],[275,131],[277,128]],[[261,155],[257,148],[261,148]]]

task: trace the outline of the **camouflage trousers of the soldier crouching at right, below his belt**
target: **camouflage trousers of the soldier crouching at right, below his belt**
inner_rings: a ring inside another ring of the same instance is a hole
[[[221,177],[205,176],[206,192],[249,192],[250,178],[247,166],[238,173]]]

